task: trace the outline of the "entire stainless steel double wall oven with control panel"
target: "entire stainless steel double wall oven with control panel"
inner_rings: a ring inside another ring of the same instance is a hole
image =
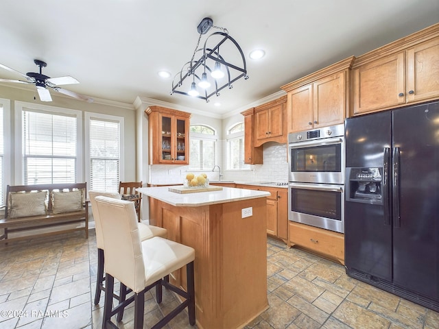
[[[288,219],[344,233],[344,124],[288,135]]]

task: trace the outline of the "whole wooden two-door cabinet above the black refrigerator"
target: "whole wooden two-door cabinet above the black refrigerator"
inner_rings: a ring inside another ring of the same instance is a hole
[[[353,115],[439,97],[439,24],[355,59]]]

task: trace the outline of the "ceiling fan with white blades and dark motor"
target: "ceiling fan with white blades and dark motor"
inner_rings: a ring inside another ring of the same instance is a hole
[[[64,84],[79,84],[80,82],[76,80],[74,77],[71,77],[70,75],[67,75],[65,77],[48,77],[47,75],[44,75],[41,73],[41,69],[43,67],[47,66],[46,62],[43,62],[42,60],[34,60],[34,63],[37,66],[40,66],[40,73],[36,72],[28,72],[26,74],[21,73],[19,71],[16,71],[14,69],[11,69],[8,66],[5,66],[3,64],[0,64],[0,67],[2,67],[5,70],[18,73],[19,75],[25,77],[26,80],[9,80],[9,79],[1,79],[0,82],[14,82],[19,84],[35,84],[36,91],[38,91],[38,96],[40,97],[41,101],[52,101],[52,97],[50,96],[49,89],[47,87],[57,91],[58,93],[62,93],[64,95],[81,99],[82,101],[88,101],[88,103],[93,102],[93,98],[80,95],[78,93],[73,93],[73,91],[66,90],[63,88],[60,88],[58,86],[64,85]]]

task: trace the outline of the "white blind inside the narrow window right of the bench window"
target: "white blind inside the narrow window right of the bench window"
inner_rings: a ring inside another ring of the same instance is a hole
[[[120,123],[91,118],[91,189],[99,191],[118,191],[120,162]]]

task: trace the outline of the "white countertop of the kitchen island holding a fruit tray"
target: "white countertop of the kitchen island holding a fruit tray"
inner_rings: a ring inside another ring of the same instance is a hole
[[[181,185],[180,185],[181,186]],[[222,191],[209,191],[198,193],[175,193],[168,191],[171,186],[142,187],[137,191],[143,195],[153,197],[172,206],[198,207],[210,204],[224,204],[246,199],[268,197],[269,192],[248,190],[246,188],[223,187]]]

